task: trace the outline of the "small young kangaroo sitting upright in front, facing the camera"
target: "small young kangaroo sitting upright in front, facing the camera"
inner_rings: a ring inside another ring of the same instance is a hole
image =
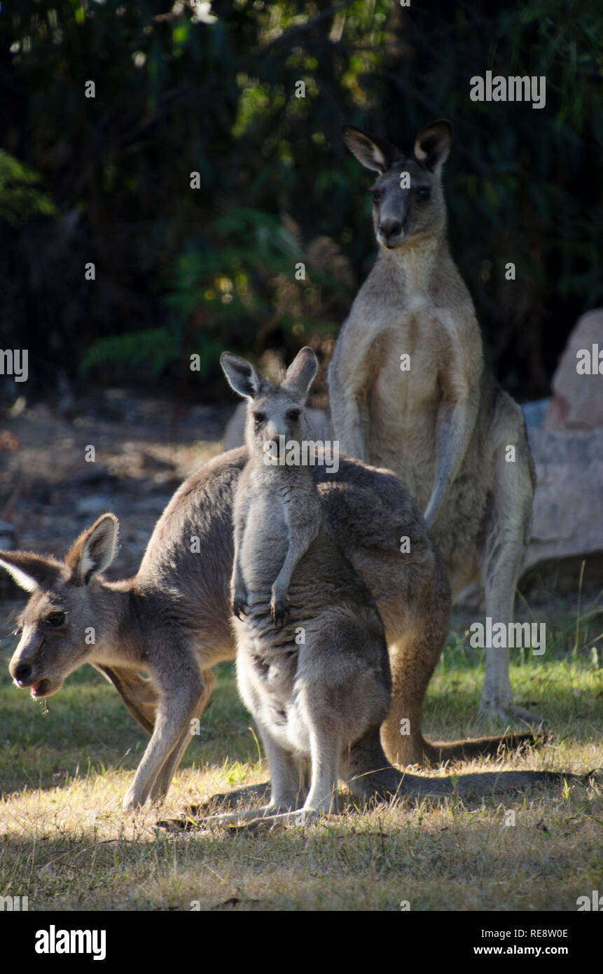
[[[220,360],[248,400],[232,592],[239,689],[270,768],[271,799],[259,813],[299,809],[305,820],[337,811],[340,772],[364,798],[364,775],[389,768],[396,791],[399,772],[379,742],[391,703],[388,648],[375,600],[323,514],[311,467],[284,463],[285,449],[299,445],[301,455],[310,439],[305,405],[315,353],[302,349],[280,386],[245,358],[223,353]],[[267,444],[276,447],[273,456]]]

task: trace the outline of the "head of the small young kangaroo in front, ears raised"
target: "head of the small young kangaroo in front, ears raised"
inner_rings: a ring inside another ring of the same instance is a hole
[[[245,445],[250,457],[279,457],[287,441],[308,439],[306,398],[319,367],[312,349],[295,356],[280,385],[269,382],[245,358],[223,352],[220,362],[231,388],[248,400]]]

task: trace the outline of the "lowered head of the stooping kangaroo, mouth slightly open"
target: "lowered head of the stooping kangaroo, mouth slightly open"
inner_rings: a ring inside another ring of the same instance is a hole
[[[31,688],[34,699],[57,693],[101,641],[107,613],[96,576],[113,559],[118,526],[114,514],[103,514],[62,562],[29,551],[0,551],[0,566],[30,593],[9,672],[18,687]]]

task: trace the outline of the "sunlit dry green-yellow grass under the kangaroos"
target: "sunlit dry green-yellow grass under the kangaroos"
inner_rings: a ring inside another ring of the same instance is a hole
[[[553,736],[500,767],[602,767],[603,669],[593,652],[602,619],[582,618],[577,641],[575,613],[553,603],[546,618],[546,655],[514,651],[511,684]],[[461,621],[428,694],[433,738],[500,731],[475,717],[483,653],[463,632]],[[0,660],[0,894],[27,895],[30,910],[398,910],[408,900],[412,910],[573,911],[578,896],[602,888],[597,783],[357,809],[259,834],[157,832],[158,809],[120,807],[148,738],[117,694],[85,666],[44,716],[10,683],[12,645],[3,642]],[[216,675],[161,817],[267,777],[234,665]]]

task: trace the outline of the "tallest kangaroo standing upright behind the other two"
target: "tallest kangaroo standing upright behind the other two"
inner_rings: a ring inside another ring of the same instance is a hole
[[[481,578],[486,615],[507,624],[536,478],[522,411],[484,365],[471,295],[446,240],[440,176],[452,127],[441,120],[420,131],[410,157],[352,126],[343,131],[378,173],[379,255],[330,362],[334,435],[350,456],[394,470],[425,511],[453,598]],[[486,650],[480,706],[536,719],[512,706],[508,649]]]

